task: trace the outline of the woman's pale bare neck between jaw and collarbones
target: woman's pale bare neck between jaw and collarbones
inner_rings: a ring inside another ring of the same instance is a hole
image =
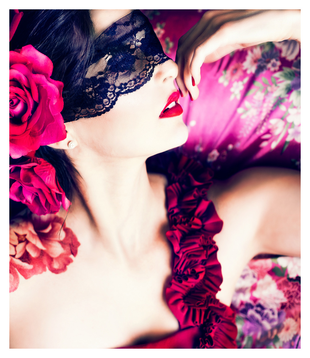
[[[145,158],[86,159],[79,156],[75,167],[82,177],[80,191],[90,218],[84,227],[90,225],[93,245],[103,243],[122,256],[150,247],[154,232],[167,217],[164,187],[148,175]],[[85,221],[85,208],[78,200],[70,214]]]

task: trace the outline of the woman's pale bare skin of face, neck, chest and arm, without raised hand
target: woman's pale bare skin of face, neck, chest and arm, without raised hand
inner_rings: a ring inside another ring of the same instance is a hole
[[[100,32],[129,10],[92,11]],[[88,212],[75,196],[66,225],[81,246],[67,271],[21,277],[10,294],[11,348],[114,348],[178,330],[164,299],[171,274],[167,182],[145,166],[148,156],[187,139],[182,115],[159,118],[177,74],[173,61],[157,66],[111,111],[67,123],[67,138],[52,145],[67,150],[79,171]],[[77,146],[68,149],[69,141]],[[215,236],[223,274],[217,298],[230,305],[253,256],[300,255],[300,175],[253,168],[215,182],[209,193],[224,222]]]

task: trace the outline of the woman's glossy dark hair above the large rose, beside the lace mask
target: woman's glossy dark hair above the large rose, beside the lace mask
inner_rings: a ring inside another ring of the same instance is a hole
[[[53,62],[53,79],[72,81],[77,65],[90,59],[95,32],[89,10],[20,10],[24,13],[10,50],[25,45]],[[87,62],[87,61],[86,61]]]

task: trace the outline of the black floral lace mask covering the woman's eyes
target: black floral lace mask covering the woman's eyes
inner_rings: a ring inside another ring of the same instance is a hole
[[[119,96],[137,91],[151,79],[154,67],[168,59],[148,18],[132,11],[95,40],[90,65],[65,88],[64,121],[108,112]]]

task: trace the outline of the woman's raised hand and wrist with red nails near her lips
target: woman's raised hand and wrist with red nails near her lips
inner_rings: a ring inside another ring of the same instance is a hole
[[[200,67],[233,50],[268,41],[300,43],[300,10],[209,10],[178,42],[177,85],[197,99]]]

